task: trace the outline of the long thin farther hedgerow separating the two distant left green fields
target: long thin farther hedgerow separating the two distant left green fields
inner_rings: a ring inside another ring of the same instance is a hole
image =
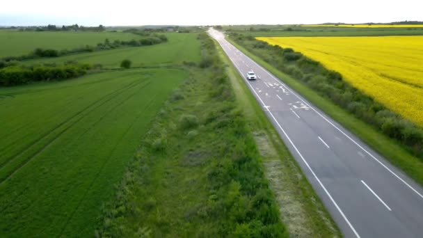
[[[68,54],[76,54],[76,53],[83,53],[83,52],[93,52],[93,51],[100,51],[100,50],[107,50],[107,49],[116,49],[118,47],[141,47],[146,45],[157,45],[161,42],[167,42],[168,38],[166,35],[152,35],[140,40],[114,40],[110,42],[109,39],[104,40],[102,43],[98,43],[95,47],[86,45],[84,47],[78,47],[74,49],[40,49],[37,48],[29,54],[23,56],[7,56],[0,60],[0,68],[5,62],[10,61],[25,61],[33,58],[51,58],[51,57],[58,57],[58,56],[65,56]],[[3,61],[3,63],[1,63]]]

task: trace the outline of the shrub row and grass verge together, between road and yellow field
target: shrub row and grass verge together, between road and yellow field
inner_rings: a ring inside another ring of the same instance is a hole
[[[240,33],[230,33],[230,39],[239,44],[246,54],[253,56],[257,62],[423,184],[421,127],[351,86],[339,72],[324,68],[321,63],[300,52],[272,46]]]

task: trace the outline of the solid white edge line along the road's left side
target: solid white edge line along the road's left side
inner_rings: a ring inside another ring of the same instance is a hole
[[[229,56],[228,53],[226,53],[226,54]],[[230,57],[228,57],[228,58],[230,59],[230,61],[232,61],[232,58],[230,58]],[[235,68],[237,68],[238,72],[242,75],[242,72],[239,69],[237,63],[235,63],[234,61],[232,61],[232,63],[234,64]],[[266,104],[264,104],[264,102],[263,102],[262,98],[260,97],[260,95],[258,95],[258,93],[254,90],[253,86],[251,86],[250,82],[247,81],[246,79],[244,79],[244,81],[246,81],[246,84],[250,87],[251,90],[253,90],[253,93],[255,93],[255,95],[260,100],[260,102],[262,102],[263,106],[266,106]],[[353,227],[353,225],[351,225],[351,223],[349,222],[349,220],[346,218],[344,212],[342,212],[341,208],[337,205],[337,203],[335,202],[335,200],[330,195],[328,189],[326,189],[326,187],[324,186],[324,184],[319,180],[319,177],[317,177],[316,173],[314,173],[314,170],[312,170],[312,168],[310,167],[310,165],[308,164],[308,162],[304,159],[303,154],[300,153],[300,151],[296,148],[295,144],[291,141],[291,138],[289,138],[289,136],[287,135],[287,133],[285,132],[285,130],[282,128],[282,126],[280,126],[278,120],[276,120],[275,116],[273,116],[273,113],[271,113],[271,111],[269,111],[269,110],[268,110],[268,113],[271,116],[271,118],[273,118],[273,120],[276,122],[276,125],[278,125],[278,127],[280,128],[280,130],[282,131],[282,133],[287,137],[289,143],[291,143],[291,145],[294,148],[294,150],[301,157],[301,159],[303,160],[305,166],[307,166],[307,168],[310,170],[310,172],[312,173],[313,177],[317,180],[317,182],[319,183],[320,187],[325,191],[326,195],[329,197],[330,201],[336,207],[336,209],[338,210],[338,212],[340,212],[342,218],[349,225],[349,228],[351,228],[351,230],[353,231],[354,235],[356,235],[356,237],[360,238],[360,235],[358,235],[356,229]]]

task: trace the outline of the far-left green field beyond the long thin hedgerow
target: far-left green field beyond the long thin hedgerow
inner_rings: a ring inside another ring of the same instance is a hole
[[[29,54],[35,48],[73,49],[97,45],[104,40],[132,40],[140,35],[122,32],[35,32],[0,31],[0,58]]]

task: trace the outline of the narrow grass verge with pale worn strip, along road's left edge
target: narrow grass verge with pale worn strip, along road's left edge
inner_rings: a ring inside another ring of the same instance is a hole
[[[216,43],[217,45],[217,43]],[[216,46],[218,47],[218,46]],[[340,237],[340,230],[331,219],[319,197],[305,178],[292,154],[266,117],[260,104],[248,90],[244,79],[234,68],[223,49],[219,56],[228,66],[227,72],[237,101],[246,115],[262,155],[265,174],[291,237]]]

